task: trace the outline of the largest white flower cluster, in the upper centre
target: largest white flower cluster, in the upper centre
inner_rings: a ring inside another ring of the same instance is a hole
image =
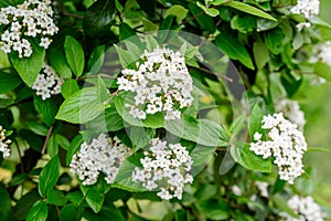
[[[119,91],[136,93],[135,105],[127,104],[135,118],[145,119],[147,114],[166,112],[166,119],[181,117],[180,109],[190,106],[193,97],[192,78],[180,52],[154,49],[140,56],[137,71],[126,69],[117,78]]]

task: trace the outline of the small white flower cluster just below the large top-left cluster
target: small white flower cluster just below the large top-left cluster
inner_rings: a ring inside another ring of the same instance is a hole
[[[56,74],[52,66],[43,64],[41,73],[36,76],[32,88],[42,99],[50,98],[52,95],[61,93],[63,80]]]

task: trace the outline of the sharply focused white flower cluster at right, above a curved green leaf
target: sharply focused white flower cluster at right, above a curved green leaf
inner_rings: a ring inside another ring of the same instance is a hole
[[[302,131],[285,119],[282,113],[264,116],[261,128],[267,130],[268,140],[263,141],[263,135],[255,133],[256,143],[252,143],[249,149],[264,159],[273,156],[279,169],[279,178],[292,185],[303,172],[302,156],[307,143]]]

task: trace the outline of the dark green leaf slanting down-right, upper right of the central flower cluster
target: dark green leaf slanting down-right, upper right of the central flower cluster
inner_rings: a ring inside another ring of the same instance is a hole
[[[250,55],[236,38],[222,32],[216,36],[215,43],[224,54],[229,56],[229,59],[238,60],[248,69],[254,70]]]

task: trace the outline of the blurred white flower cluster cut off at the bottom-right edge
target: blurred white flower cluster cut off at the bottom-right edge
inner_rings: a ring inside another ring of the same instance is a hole
[[[324,213],[321,208],[308,197],[300,197],[295,194],[288,202],[288,207],[293,210],[299,218],[293,218],[287,212],[280,212],[279,215],[285,218],[287,221],[323,221]]]

